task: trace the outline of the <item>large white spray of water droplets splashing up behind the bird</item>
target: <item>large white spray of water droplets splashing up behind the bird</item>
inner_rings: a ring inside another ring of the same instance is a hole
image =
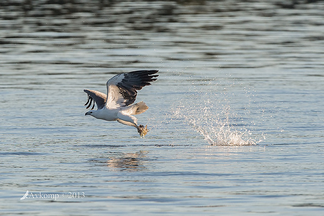
[[[210,145],[245,146],[262,141],[253,135],[251,125],[247,123],[254,124],[247,116],[249,111],[244,111],[244,117],[232,111],[230,99],[234,99],[233,94],[194,91],[188,99],[180,100],[174,116],[203,135]]]

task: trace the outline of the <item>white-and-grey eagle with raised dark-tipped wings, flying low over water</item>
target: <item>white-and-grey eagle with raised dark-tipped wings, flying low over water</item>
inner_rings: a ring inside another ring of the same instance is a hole
[[[143,101],[133,103],[136,100],[137,91],[157,79],[157,72],[158,70],[137,70],[117,74],[106,83],[107,95],[85,89],[84,92],[88,94],[85,106],[88,105],[88,109],[93,104],[91,110],[85,115],[134,126],[140,136],[144,137],[148,132],[147,125],[137,125],[137,118],[134,115],[145,112],[148,106]],[[97,110],[94,110],[95,104],[97,104]]]

